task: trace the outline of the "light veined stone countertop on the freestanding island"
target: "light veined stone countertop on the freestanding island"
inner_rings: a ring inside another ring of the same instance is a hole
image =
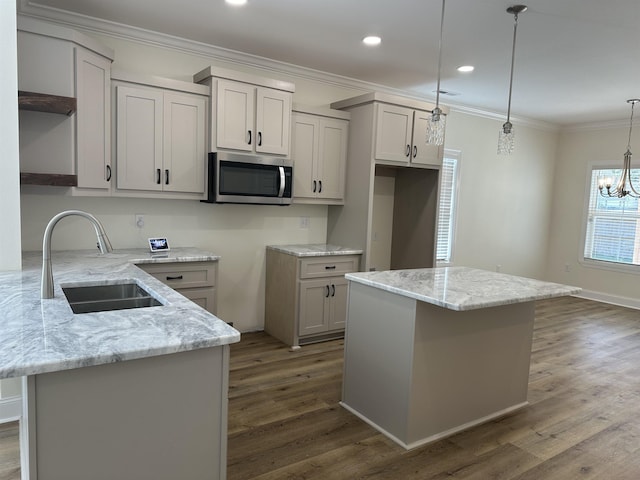
[[[347,280],[450,310],[474,310],[579,293],[559,283],[468,267],[347,273]]]

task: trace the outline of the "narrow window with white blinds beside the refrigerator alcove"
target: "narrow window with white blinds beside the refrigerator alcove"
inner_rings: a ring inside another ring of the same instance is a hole
[[[452,261],[459,160],[460,152],[445,150],[442,170],[440,170],[440,204],[436,238],[436,264],[438,265],[449,264]]]

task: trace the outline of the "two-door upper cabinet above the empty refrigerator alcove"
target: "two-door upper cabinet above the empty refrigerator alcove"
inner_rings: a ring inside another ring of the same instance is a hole
[[[378,104],[375,159],[403,165],[442,165],[441,147],[426,143],[430,112]]]

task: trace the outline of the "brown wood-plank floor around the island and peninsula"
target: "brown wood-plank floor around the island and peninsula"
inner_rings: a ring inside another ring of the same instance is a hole
[[[537,303],[530,405],[405,451],[338,405],[340,340],[297,352],[264,333],[231,348],[229,480],[640,478],[640,312]],[[15,424],[0,479],[17,480]]]

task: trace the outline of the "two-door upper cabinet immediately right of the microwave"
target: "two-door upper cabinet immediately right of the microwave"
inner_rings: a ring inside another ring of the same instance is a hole
[[[337,118],[294,111],[291,158],[296,203],[342,204],[349,135],[349,114]]]

